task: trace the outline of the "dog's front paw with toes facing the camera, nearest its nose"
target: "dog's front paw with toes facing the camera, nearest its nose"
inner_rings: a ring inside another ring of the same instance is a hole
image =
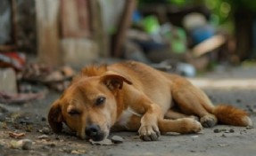
[[[138,130],[139,136],[144,141],[156,141],[160,137],[160,131],[157,126],[145,125]]]

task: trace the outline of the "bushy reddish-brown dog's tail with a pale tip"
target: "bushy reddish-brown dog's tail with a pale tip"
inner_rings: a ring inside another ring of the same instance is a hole
[[[231,105],[217,105],[212,110],[219,123],[233,126],[252,126],[248,113]]]

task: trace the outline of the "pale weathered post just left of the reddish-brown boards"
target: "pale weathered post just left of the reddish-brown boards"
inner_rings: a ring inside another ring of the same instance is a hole
[[[36,0],[38,61],[50,66],[58,66],[62,62],[59,50],[59,5],[59,0]]]

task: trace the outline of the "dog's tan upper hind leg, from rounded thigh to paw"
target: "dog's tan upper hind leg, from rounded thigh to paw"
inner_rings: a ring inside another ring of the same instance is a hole
[[[182,113],[199,116],[202,126],[206,128],[217,124],[217,118],[212,114],[214,105],[202,90],[194,87],[190,82],[182,80],[173,84],[171,93]]]

